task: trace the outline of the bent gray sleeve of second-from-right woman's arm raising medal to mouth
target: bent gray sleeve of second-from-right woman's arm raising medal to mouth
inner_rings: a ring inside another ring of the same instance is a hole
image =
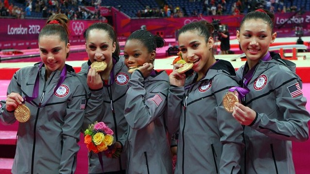
[[[172,135],[179,130],[180,116],[183,110],[184,87],[170,85],[168,93],[168,107],[166,122],[168,132]]]

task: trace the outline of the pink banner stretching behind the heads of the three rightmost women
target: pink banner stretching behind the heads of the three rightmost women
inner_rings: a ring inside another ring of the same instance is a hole
[[[175,31],[183,25],[199,20],[207,20],[211,22],[213,19],[219,19],[221,24],[228,26],[230,35],[236,35],[236,30],[239,28],[243,16],[201,16],[201,17],[181,17],[181,18],[135,18],[129,19],[121,14],[117,14],[116,28],[120,37],[128,37],[131,32],[134,32],[145,25],[147,30],[159,34],[164,38],[174,38]],[[295,26],[302,26],[304,36],[310,35],[310,12],[302,15],[294,13],[276,14],[275,16],[275,31],[278,32],[278,37],[295,36]]]

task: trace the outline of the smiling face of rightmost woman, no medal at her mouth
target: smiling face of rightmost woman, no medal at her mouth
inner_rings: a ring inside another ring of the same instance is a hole
[[[267,54],[271,42],[276,39],[276,32],[272,33],[270,26],[262,19],[249,19],[237,31],[237,39],[249,65],[253,66]]]

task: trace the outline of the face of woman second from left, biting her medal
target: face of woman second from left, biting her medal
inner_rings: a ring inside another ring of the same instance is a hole
[[[104,61],[108,67],[112,66],[112,53],[116,43],[109,37],[108,32],[98,29],[89,31],[86,38],[86,52],[91,63]]]

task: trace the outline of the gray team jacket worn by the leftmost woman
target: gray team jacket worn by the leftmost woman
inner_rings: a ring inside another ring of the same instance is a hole
[[[7,94],[15,92],[22,97],[32,96],[38,65],[19,69]],[[61,71],[52,72],[47,81],[44,66],[39,72],[38,97],[31,104],[25,103],[31,111],[30,120],[18,125],[13,174],[71,174],[76,169],[86,93],[73,68],[66,66],[66,79],[54,94]],[[44,107],[37,107],[46,101]],[[8,125],[16,121],[14,112],[6,111],[5,104],[0,110],[0,120]]]

